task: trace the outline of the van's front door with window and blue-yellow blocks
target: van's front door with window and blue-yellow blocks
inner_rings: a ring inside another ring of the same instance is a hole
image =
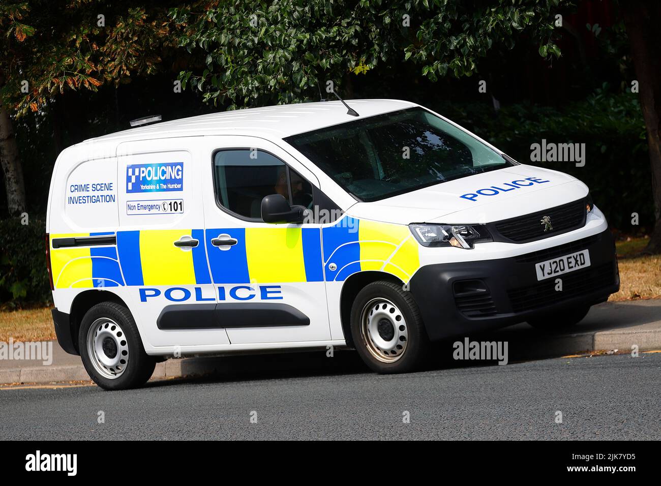
[[[321,225],[260,216],[269,194],[312,208],[319,181],[260,138],[208,136],[203,147],[206,250],[232,345],[330,339]]]

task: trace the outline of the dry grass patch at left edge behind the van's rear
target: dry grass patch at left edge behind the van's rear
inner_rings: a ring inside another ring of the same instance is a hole
[[[50,308],[0,312],[0,341],[43,341],[55,339]]]

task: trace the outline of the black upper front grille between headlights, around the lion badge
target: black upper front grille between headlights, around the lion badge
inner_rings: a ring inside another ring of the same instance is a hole
[[[586,201],[581,199],[563,204],[563,206],[498,221],[493,223],[493,227],[506,240],[516,243],[535,241],[536,239],[566,233],[585,225],[587,215],[585,206]],[[541,222],[541,219],[545,216],[549,216],[551,225],[553,225],[553,229],[549,231],[544,231],[545,225]]]

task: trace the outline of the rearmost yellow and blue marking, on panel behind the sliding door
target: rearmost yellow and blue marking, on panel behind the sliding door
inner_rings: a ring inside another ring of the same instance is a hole
[[[117,287],[124,285],[114,247],[53,248],[54,238],[112,235],[114,233],[66,233],[50,235],[50,261],[55,288]]]

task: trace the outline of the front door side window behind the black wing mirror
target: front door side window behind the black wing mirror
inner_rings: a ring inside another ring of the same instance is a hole
[[[220,150],[214,155],[218,204],[245,218],[261,218],[264,196],[281,194],[290,204],[311,208],[312,186],[283,161],[253,149]]]

